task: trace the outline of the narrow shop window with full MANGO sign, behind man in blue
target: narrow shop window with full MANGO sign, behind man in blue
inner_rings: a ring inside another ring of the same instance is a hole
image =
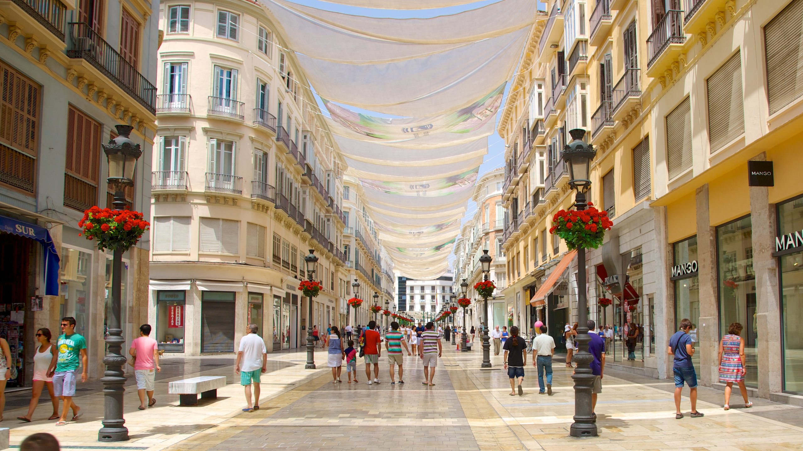
[[[671,270],[671,280],[675,283],[675,331],[680,327],[680,320],[688,318],[691,321],[692,341],[697,345],[697,325],[700,318],[700,282],[697,266],[697,237],[691,237],[682,242],[676,242],[675,260]],[[674,332],[673,332],[674,333]],[[697,374],[700,372],[700,353],[691,356]]]

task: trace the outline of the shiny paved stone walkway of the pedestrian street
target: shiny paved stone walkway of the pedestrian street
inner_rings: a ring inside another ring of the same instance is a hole
[[[316,356],[321,360],[324,353]],[[389,384],[383,356],[381,384],[369,386],[364,365],[358,367],[360,384],[332,384],[328,368],[304,369],[303,352],[274,354],[269,356],[270,373],[263,376],[261,408],[248,413],[240,410],[243,389],[232,371],[233,356],[168,358],[157,380],[159,402],[154,408],[138,411],[136,391],[127,388],[130,441],[96,441],[103,415],[103,395],[96,391],[77,398],[86,415],[76,423],[55,428],[44,420],[50,413],[47,403],[36,411],[39,421],[19,425],[14,418],[24,410],[8,405],[2,426],[12,428],[12,445],[31,433],[51,432],[65,449],[803,449],[803,408],[754,400],[751,409],[725,412],[722,392],[700,388],[698,408],[706,416],[675,420],[671,381],[613,371],[606,372],[597,404],[599,437],[569,437],[573,381],[560,358],[553,366],[553,396],[538,394],[532,367],[524,396],[508,396],[502,356],[491,357],[495,368],[480,370],[480,352],[459,353],[449,347],[438,362],[436,386],[429,388],[421,384],[422,366],[414,357],[405,358],[406,384]],[[184,375],[227,376],[229,384],[218,391],[217,400],[177,407],[177,396],[166,394],[167,382]],[[26,396],[12,396],[10,404],[20,397]],[[738,398],[735,394],[732,400]],[[683,410],[690,411],[687,398]]]

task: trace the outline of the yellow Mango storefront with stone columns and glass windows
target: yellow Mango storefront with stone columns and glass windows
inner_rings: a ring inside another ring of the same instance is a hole
[[[721,386],[719,339],[741,323],[748,388],[803,404],[803,154],[794,142],[740,152],[652,206],[666,214],[667,336],[691,319],[700,383]],[[759,171],[748,160],[772,165]]]

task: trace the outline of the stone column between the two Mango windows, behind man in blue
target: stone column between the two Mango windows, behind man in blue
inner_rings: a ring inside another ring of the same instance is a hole
[[[700,383],[711,387],[719,380],[719,296],[717,295],[716,233],[708,215],[708,184],[700,186],[697,203],[697,262],[700,281],[700,318],[697,325]],[[674,326],[673,326],[674,329]]]

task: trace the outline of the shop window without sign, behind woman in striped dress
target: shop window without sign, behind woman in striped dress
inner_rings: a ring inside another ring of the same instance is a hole
[[[744,339],[744,384],[758,384],[758,336],[756,329],[756,273],[752,267],[752,223],[743,217],[716,228],[719,274],[719,335],[728,325],[741,323]]]

